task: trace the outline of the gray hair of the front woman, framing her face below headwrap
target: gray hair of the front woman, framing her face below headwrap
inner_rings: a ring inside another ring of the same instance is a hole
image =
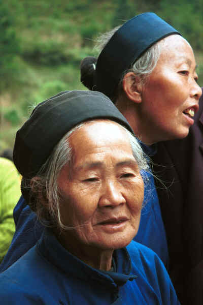
[[[73,163],[73,148],[70,145],[69,138],[73,132],[80,129],[89,122],[95,120],[90,120],[83,122],[71,131],[67,132],[63,138],[58,142],[58,144],[53,149],[51,155],[41,167],[40,171],[36,177],[32,178],[31,182],[31,197],[32,200],[36,202],[36,214],[38,219],[45,226],[55,226],[58,229],[67,230],[70,227],[64,226],[61,221],[60,216],[60,191],[57,184],[58,175],[65,164],[71,165]],[[109,121],[109,120],[108,120]],[[121,126],[121,125],[119,125]],[[121,126],[127,136],[129,137],[130,145],[132,148],[132,154],[134,159],[136,159],[140,171],[150,171],[148,165],[148,157],[145,155],[142,147],[140,146],[136,137],[134,137],[126,128]],[[71,175],[71,172],[69,173]],[[42,204],[42,200],[46,204]],[[46,207],[45,207],[46,206]]]

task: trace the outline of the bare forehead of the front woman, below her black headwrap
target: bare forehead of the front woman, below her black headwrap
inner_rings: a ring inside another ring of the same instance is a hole
[[[110,156],[120,163],[124,160],[126,162],[126,159],[128,162],[136,161],[130,134],[111,120],[99,119],[84,124],[72,133],[69,142],[73,149],[74,168],[83,166],[84,163],[93,162],[94,166],[98,162],[106,163],[106,158]]]

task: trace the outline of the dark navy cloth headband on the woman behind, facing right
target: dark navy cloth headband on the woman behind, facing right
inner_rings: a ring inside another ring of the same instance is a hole
[[[125,22],[98,56],[93,89],[111,97],[123,72],[153,44],[173,34],[180,35],[154,13],[144,13]]]

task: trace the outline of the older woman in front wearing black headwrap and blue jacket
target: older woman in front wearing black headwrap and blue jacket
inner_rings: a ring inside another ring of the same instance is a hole
[[[17,132],[22,192],[44,226],[0,275],[2,304],[178,304],[158,256],[132,241],[146,157],[101,93],[64,92]]]

